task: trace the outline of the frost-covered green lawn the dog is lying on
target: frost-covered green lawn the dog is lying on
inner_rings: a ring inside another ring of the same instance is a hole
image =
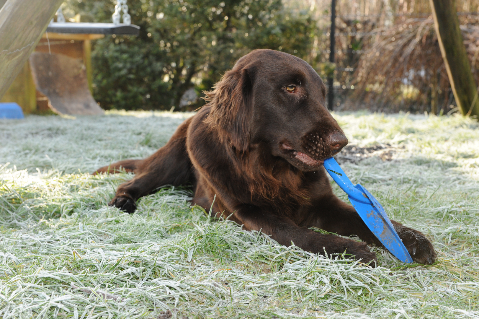
[[[210,221],[188,188],[133,215],[107,207],[131,176],[89,173],[151,154],[191,116],[151,115],[0,120],[1,318],[479,318],[477,122],[334,115],[357,148],[387,146],[344,171],[438,250],[422,266],[373,248],[370,269]]]

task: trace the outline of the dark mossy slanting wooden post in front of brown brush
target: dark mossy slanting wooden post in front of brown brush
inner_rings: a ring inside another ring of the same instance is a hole
[[[479,97],[464,47],[454,0],[429,0],[434,28],[456,104],[463,115],[479,116]]]

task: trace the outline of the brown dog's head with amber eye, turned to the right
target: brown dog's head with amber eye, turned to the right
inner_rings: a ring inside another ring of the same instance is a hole
[[[317,169],[348,140],[326,108],[326,87],[304,60],[254,50],[206,93],[206,121],[239,152],[266,143],[302,171]]]

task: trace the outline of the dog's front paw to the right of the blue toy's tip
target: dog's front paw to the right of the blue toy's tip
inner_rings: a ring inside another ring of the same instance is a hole
[[[433,264],[436,261],[437,255],[433,244],[421,232],[401,224],[395,224],[394,228],[408,249],[412,260],[420,264]]]

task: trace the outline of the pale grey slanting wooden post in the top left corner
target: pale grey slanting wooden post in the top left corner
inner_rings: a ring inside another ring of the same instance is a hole
[[[0,98],[30,57],[63,0],[7,0],[0,9]]]

